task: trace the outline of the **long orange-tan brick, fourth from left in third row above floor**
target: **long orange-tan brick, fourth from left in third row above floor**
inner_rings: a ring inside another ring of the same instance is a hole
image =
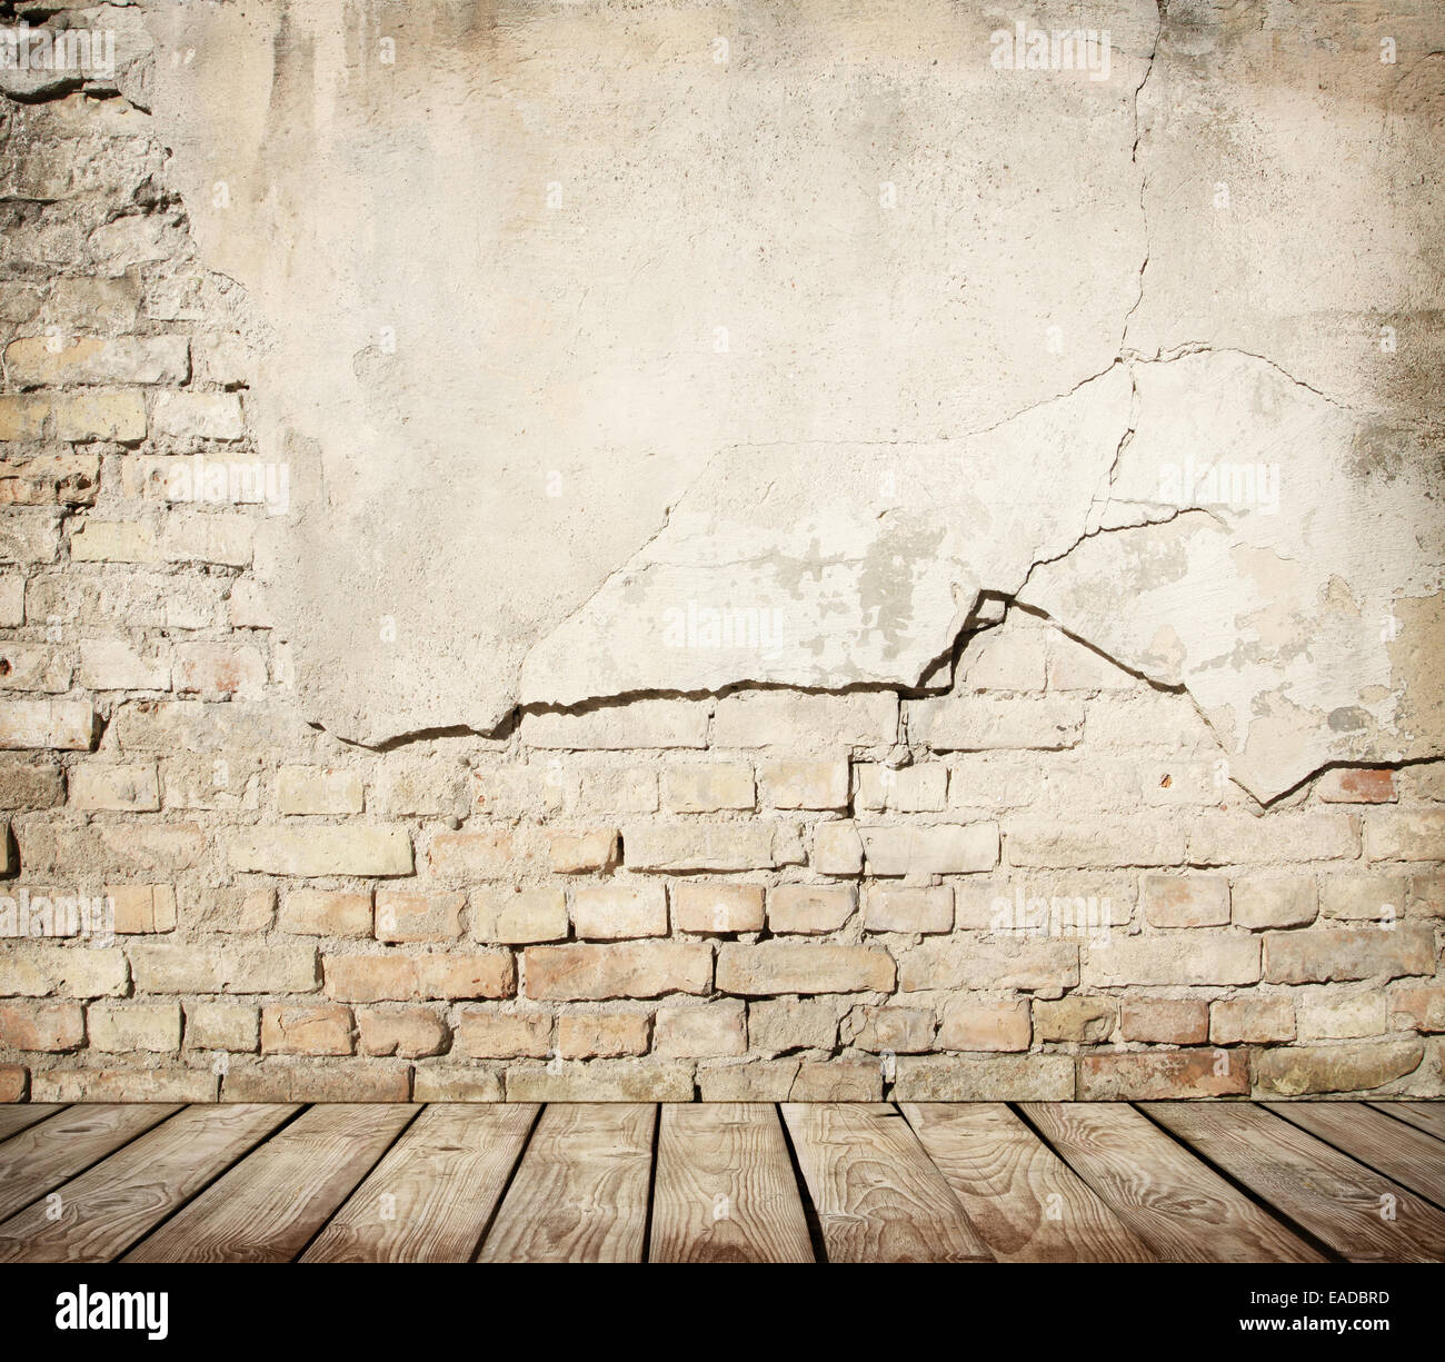
[[[523,953],[527,998],[607,999],[707,993],[712,950],[691,941],[536,946]]]

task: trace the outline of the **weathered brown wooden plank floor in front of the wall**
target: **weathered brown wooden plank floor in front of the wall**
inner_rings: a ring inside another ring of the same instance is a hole
[[[111,1261],[1441,1262],[1445,1103],[0,1108],[0,1262]]]

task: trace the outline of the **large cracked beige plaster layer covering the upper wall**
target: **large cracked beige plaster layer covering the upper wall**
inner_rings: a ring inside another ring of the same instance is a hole
[[[1445,750],[1445,20],[1014,17],[1107,77],[942,3],[147,9],[269,335],[306,713],[926,690],[997,594],[1185,687],[1261,801]]]

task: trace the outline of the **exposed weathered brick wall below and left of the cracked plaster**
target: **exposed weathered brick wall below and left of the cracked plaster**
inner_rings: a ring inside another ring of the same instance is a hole
[[[0,1097],[1445,1095],[1445,763],[1260,810],[1019,609],[941,695],[308,724],[259,489],[181,477],[260,457],[244,299],[58,95],[3,107]]]

